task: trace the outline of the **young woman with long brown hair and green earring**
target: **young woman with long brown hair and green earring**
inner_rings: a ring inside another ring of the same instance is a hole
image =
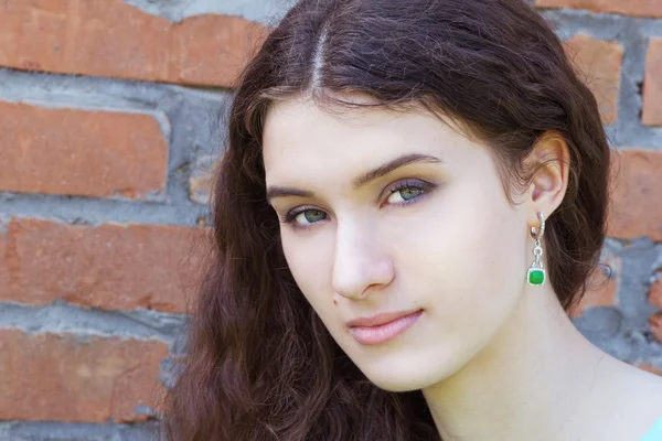
[[[524,1],[300,1],[228,123],[167,439],[662,440],[568,319],[610,153]]]

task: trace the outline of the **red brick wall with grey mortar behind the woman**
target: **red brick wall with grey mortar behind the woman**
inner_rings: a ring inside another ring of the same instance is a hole
[[[282,12],[264,3],[0,1],[0,440],[149,439],[182,347],[216,121]],[[662,3],[536,3],[619,165],[613,277],[594,275],[574,321],[662,375]]]

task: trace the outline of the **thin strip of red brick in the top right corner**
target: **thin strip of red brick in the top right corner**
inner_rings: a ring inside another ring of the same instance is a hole
[[[538,8],[587,9],[592,12],[662,18],[658,0],[536,0]]]

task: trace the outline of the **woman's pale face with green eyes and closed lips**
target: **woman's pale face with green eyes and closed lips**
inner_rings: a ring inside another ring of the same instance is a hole
[[[264,161],[298,287],[378,387],[442,380],[516,306],[531,254],[526,214],[509,204],[489,150],[436,117],[361,109],[339,118],[312,101],[280,101],[266,119]],[[350,325],[382,313],[414,314]]]

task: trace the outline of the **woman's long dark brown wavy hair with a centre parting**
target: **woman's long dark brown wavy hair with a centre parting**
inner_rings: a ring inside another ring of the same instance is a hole
[[[490,147],[509,191],[548,131],[570,150],[547,219],[551,283],[568,311],[605,238],[609,147],[594,95],[522,0],[302,0],[245,68],[215,171],[211,250],[161,432],[184,440],[440,440],[420,391],[374,386],[299,291],[266,200],[261,133],[271,103],[406,109],[459,121]],[[511,200],[512,202],[512,200]]]

